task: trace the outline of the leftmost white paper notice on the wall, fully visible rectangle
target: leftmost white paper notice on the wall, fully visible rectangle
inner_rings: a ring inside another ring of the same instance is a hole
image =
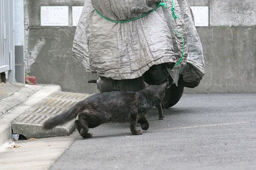
[[[41,26],[69,26],[68,6],[41,6]]]

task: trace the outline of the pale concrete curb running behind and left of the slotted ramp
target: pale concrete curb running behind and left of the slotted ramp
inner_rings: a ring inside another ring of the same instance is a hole
[[[12,108],[0,117],[0,146],[11,140],[12,129],[11,123],[22,113],[26,112],[31,106],[37,104],[46,96],[54,92],[60,92],[60,85],[42,85],[43,87],[28,97],[27,101],[22,102],[18,106]]]

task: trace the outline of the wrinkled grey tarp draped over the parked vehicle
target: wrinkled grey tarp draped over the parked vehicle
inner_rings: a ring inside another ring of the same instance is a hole
[[[184,58],[173,68],[179,70],[184,64],[183,80],[199,84],[204,75],[204,60],[199,36],[187,0],[174,0],[168,8],[157,8],[146,17],[127,23],[112,20],[128,20],[141,16],[157,6],[160,0],[85,0],[73,42],[73,57],[87,71],[112,79],[133,79],[142,76],[151,66],[177,62],[182,54],[182,38],[185,41]],[[170,19],[171,18],[171,21]]]

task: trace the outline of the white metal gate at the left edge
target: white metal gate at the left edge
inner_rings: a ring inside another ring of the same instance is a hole
[[[14,3],[0,0],[0,73],[9,71],[8,79],[14,80]]]

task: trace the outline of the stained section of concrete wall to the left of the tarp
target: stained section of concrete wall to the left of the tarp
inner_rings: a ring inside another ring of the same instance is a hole
[[[72,26],[72,6],[83,6],[83,0],[24,0],[25,64],[37,83],[58,84],[63,91],[97,92],[87,80],[96,76],[85,72],[72,58],[75,28]],[[40,6],[69,6],[70,26],[40,26]]]

